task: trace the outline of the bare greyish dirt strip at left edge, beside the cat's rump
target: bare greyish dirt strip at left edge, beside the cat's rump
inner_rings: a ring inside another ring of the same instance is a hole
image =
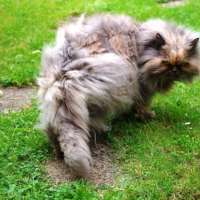
[[[0,113],[8,113],[9,110],[19,111],[30,104],[34,97],[36,87],[27,88],[0,88]]]

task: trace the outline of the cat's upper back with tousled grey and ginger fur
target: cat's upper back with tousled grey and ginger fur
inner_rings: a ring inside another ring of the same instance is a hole
[[[98,14],[67,23],[58,31],[58,38],[63,35],[60,43],[70,47],[74,59],[112,52],[135,62],[137,30],[138,23],[128,16]]]

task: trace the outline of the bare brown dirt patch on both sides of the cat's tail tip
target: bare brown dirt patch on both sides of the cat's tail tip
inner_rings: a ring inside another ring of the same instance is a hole
[[[115,168],[110,158],[115,156],[114,153],[104,143],[99,143],[96,146],[90,144],[90,150],[93,157],[93,165],[91,165],[91,178],[88,182],[94,185],[112,185],[114,183]],[[64,159],[58,159],[54,156],[46,164],[46,170],[48,171],[48,177],[53,178],[53,184],[55,185],[58,182],[74,181],[74,177]]]

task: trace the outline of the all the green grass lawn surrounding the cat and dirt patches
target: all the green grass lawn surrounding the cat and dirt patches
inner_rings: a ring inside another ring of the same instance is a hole
[[[35,84],[42,47],[54,40],[59,23],[83,12],[124,13],[140,21],[163,18],[199,31],[200,2],[164,8],[156,0],[0,0],[0,84]],[[76,181],[51,185],[45,163],[51,145],[35,128],[37,104],[0,118],[0,199],[200,199],[200,81],[177,83],[168,96],[157,95],[157,118],[112,122],[108,142],[122,173],[114,186]]]

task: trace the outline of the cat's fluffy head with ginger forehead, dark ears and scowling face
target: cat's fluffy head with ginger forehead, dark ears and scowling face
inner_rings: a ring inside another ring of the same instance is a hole
[[[138,66],[156,81],[190,81],[200,72],[198,41],[197,34],[183,27],[150,20],[138,34]]]

